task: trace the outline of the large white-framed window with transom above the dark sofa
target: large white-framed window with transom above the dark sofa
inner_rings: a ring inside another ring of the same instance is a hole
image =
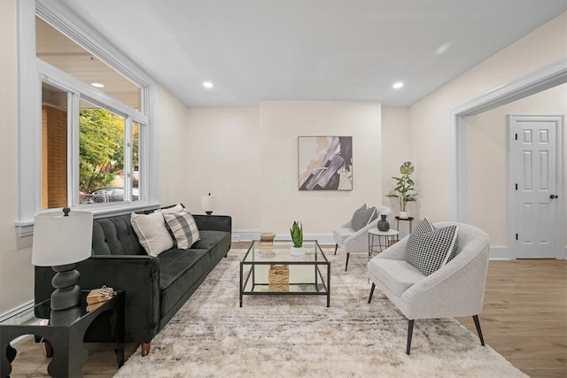
[[[154,205],[151,80],[65,19],[64,4],[18,6],[19,235],[33,233],[41,211],[113,214]]]

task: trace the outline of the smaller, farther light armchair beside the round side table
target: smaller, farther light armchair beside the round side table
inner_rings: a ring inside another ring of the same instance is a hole
[[[372,220],[366,227],[356,231],[353,229],[351,220],[347,220],[345,223],[338,226],[338,228],[333,229],[333,237],[336,243],[335,254],[337,254],[338,247],[346,251],[345,271],[348,268],[348,258],[351,253],[364,252],[367,255],[369,254],[369,229],[377,228],[380,215],[385,214],[388,216],[388,221],[392,221],[389,217],[392,211],[388,207],[382,205],[375,207],[377,210],[377,219]]]

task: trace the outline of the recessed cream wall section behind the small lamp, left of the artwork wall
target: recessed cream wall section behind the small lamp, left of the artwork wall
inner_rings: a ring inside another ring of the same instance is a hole
[[[201,195],[215,197],[214,213],[232,216],[241,233],[260,227],[260,109],[189,108],[184,140],[189,185],[183,198],[204,213]]]

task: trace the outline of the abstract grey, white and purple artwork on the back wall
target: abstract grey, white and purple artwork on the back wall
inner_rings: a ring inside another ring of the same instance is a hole
[[[299,190],[353,190],[352,136],[299,136]]]

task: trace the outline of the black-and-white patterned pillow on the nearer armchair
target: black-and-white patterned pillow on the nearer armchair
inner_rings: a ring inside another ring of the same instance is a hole
[[[420,272],[430,275],[454,258],[459,228],[448,226],[416,234],[412,231],[406,245],[406,260]]]

